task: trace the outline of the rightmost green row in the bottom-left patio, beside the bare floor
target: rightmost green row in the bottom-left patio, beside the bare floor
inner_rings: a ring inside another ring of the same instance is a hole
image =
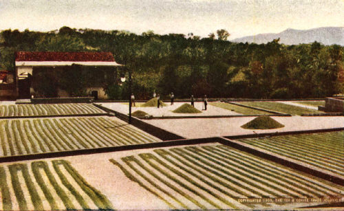
[[[81,175],[79,175],[78,171],[76,171],[70,164],[69,162],[65,160],[59,160],[63,166],[65,166],[65,169],[68,171],[69,175],[73,177],[73,179],[78,183],[80,188],[83,189],[83,191],[94,201],[96,206],[100,210],[109,210],[113,209],[113,206],[109,199],[105,197],[99,190],[96,190],[96,188],[92,187],[90,184],[87,183]]]

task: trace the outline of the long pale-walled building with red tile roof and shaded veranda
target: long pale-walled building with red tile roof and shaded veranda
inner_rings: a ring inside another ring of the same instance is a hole
[[[111,52],[16,52],[15,66],[19,98],[30,98],[32,95],[35,95],[32,82],[26,82],[23,85],[23,81],[27,80],[26,78],[31,78],[34,69],[44,68],[58,71],[58,69],[72,65],[94,68],[96,73],[95,80],[98,78],[107,78],[109,68],[121,66],[116,63],[114,55]],[[105,69],[107,70],[105,71]],[[94,86],[93,83],[89,84],[87,92],[97,91],[100,98],[106,98],[103,87],[100,87],[100,85],[96,85],[97,87]],[[63,92],[59,96],[67,97],[66,93]]]

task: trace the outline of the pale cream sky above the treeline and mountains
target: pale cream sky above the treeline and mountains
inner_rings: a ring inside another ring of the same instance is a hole
[[[47,32],[64,25],[202,37],[225,29],[233,39],[344,27],[344,0],[0,0],[0,30]]]

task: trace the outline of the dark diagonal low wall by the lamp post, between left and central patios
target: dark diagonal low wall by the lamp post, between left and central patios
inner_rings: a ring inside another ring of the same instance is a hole
[[[123,120],[125,122],[129,121],[129,116],[125,115],[123,113],[120,113],[118,111],[114,111],[112,109],[108,109],[106,107],[103,107],[99,104],[94,104],[95,107],[98,107],[99,109],[103,109],[103,111],[106,111],[108,113],[112,113],[116,115],[117,118],[120,120]],[[160,129],[157,126],[153,126],[151,124],[148,124],[147,122],[143,122],[142,120],[139,120],[138,118],[134,118],[131,116],[131,124],[133,126],[136,126],[138,129],[141,129],[142,131],[145,131],[155,137],[158,137],[160,140],[167,141],[167,140],[182,140],[184,137],[180,135],[176,135],[175,133],[171,133],[169,131],[165,131],[164,129]]]

